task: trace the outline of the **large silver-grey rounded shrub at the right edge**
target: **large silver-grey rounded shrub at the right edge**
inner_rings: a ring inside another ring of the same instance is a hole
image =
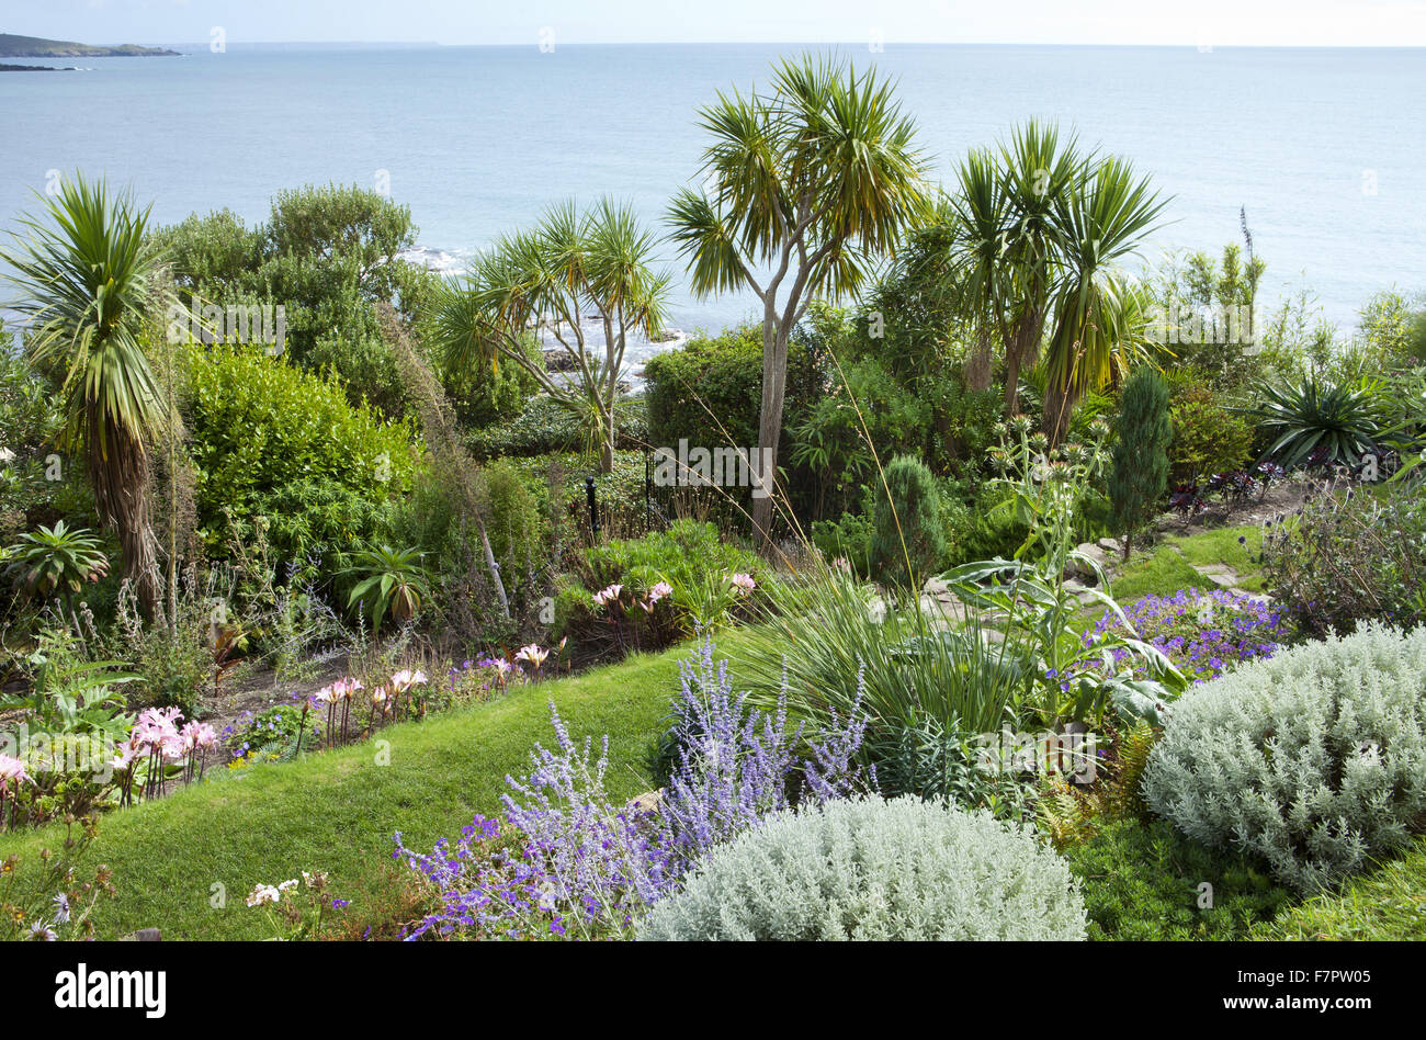
[[[1400,847],[1426,823],[1426,628],[1333,635],[1198,686],[1174,706],[1144,796],[1302,892]]]

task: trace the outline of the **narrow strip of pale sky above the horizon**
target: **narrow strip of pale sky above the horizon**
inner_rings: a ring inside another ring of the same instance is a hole
[[[84,43],[838,41],[1426,46],[1395,0],[4,0],[0,31]]]

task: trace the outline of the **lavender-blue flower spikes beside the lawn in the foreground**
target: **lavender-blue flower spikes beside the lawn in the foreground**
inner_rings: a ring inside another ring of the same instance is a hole
[[[503,819],[476,816],[431,853],[395,836],[395,859],[429,899],[406,939],[629,937],[710,847],[800,800],[861,786],[853,765],[864,720],[847,718],[806,740],[786,706],[750,708],[704,641],[680,668],[677,766],[656,810],[607,790],[609,742],[570,736],[550,706],[556,749],[536,745],[530,770],[506,778]]]

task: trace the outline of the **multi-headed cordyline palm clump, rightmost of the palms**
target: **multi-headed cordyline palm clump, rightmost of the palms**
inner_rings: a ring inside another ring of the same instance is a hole
[[[977,324],[971,387],[990,385],[990,351],[1005,362],[1005,408],[1040,360],[1045,432],[1058,441],[1089,388],[1122,375],[1144,345],[1145,300],[1118,262],[1164,205],[1124,160],[1081,153],[1031,120],[995,150],[975,150],[950,198],[950,291]],[[1048,337],[1047,337],[1048,330]]]

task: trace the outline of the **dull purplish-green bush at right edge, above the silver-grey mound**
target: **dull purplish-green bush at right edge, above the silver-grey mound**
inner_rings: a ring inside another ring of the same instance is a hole
[[[1265,588],[1305,632],[1426,621],[1426,496],[1405,482],[1319,494],[1269,528],[1262,564]]]

